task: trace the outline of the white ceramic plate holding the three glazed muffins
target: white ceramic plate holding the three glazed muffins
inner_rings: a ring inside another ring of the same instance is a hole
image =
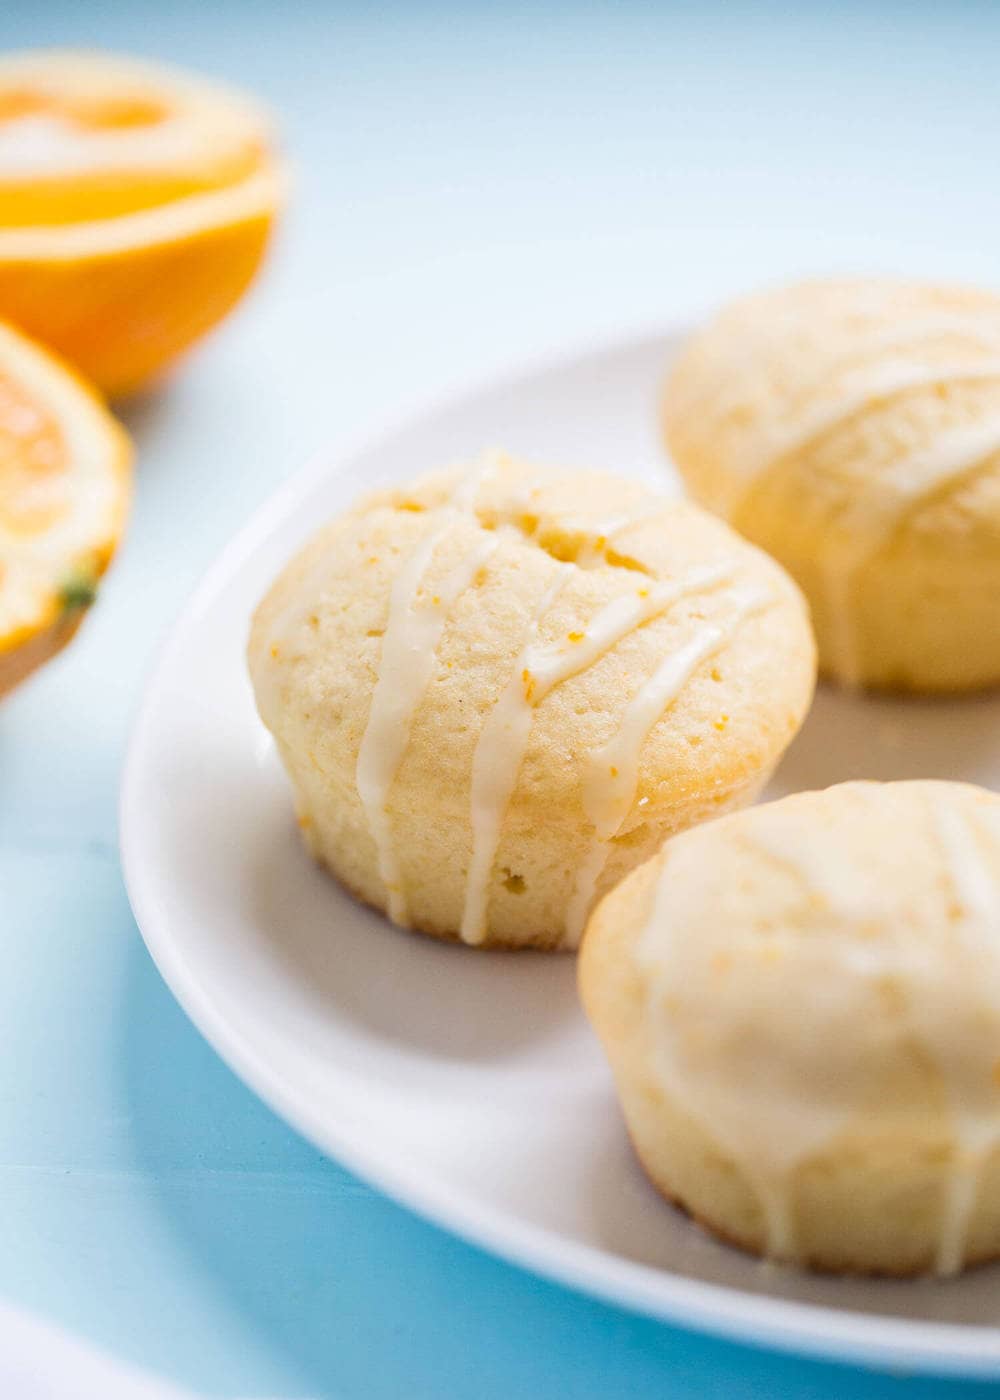
[[[296,477],[210,570],[136,725],[122,843],[164,977],[256,1092],[360,1176],[541,1274],[692,1327],[901,1369],[1000,1376],[1000,1271],[860,1282],[762,1266],[646,1184],[577,1007],[574,965],[391,928],[303,853],[251,700],[249,612],[361,489],[504,445],[662,483],[676,336],[455,399]],[[849,777],[1000,787],[1000,701],[817,699],[779,791]]]

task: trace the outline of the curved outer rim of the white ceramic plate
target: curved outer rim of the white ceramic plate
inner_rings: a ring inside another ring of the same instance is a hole
[[[388,1149],[359,1144],[322,1114],[308,1095],[275,1072],[251,1040],[235,1028],[196,970],[178,951],[169,918],[150,896],[143,874],[143,769],[154,732],[157,693],[175,654],[182,648],[214,598],[238,574],[259,545],[282,526],[332,476],[349,470],[354,458],[377,451],[401,433],[489,392],[515,391],[546,372],[570,371],[595,357],[634,353],[640,343],[671,340],[689,333],[692,322],[641,322],[627,333],[580,342],[538,357],[522,357],[506,370],[458,381],[451,389],[419,396],[333,448],[311,454],[237,529],[209,564],[161,640],[140,687],[140,701],[127,739],[119,797],[119,847],[132,911],[146,948],[172,995],[199,1033],[232,1072],[268,1107],[325,1156],[346,1166],[391,1200],[458,1236],[473,1247],[576,1292],[615,1308],[653,1317],[704,1336],[762,1350],[908,1375],[1000,1378],[1000,1329],[973,1323],[926,1322],[831,1309],[748,1294],[737,1285],[688,1278],[622,1259],[597,1246],[573,1240],[542,1225],[483,1204],[466,1191],[443,1186],[420,1172],[399,1168]],[[692,1226],[693,1228],[693,1226]]]

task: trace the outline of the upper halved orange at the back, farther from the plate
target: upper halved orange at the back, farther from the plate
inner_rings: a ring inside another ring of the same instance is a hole
[[[105,393],[239,300],[284,179],[249,99],[132,59],[0,57],[0,316]]]

